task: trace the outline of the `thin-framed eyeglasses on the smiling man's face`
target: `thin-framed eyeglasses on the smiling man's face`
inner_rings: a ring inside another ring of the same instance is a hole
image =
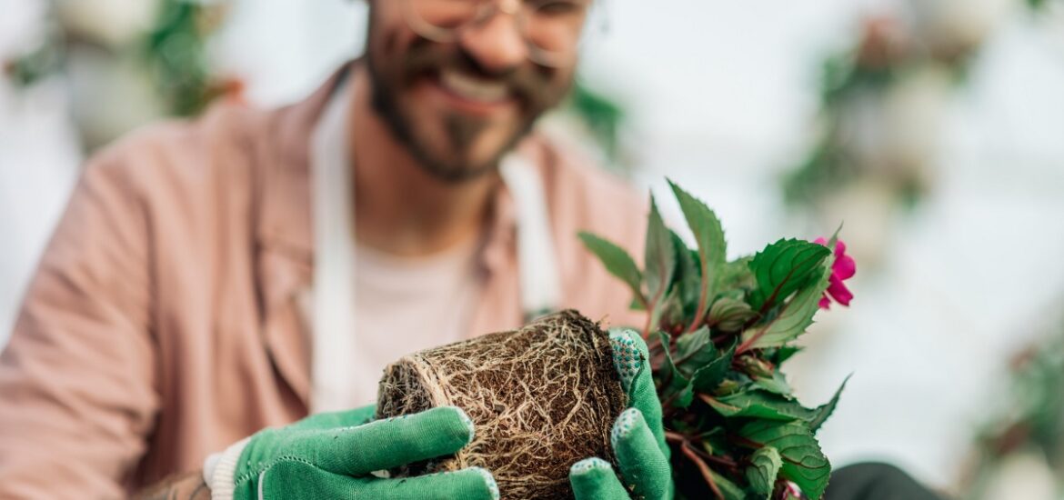
[[[406,22],[419,35],[450,43],[462,30],[514,16],[530,57],[546,66],[571,60],[580,41],[591,0],[404,0]]]

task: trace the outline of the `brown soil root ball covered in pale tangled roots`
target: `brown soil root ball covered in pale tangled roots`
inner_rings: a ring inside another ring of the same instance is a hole
[[[606,333],[575,311],[520,330],[408,355],[381,380],[378,417],[454,405],[476,423],[454,457],[404,473],[480,466],[504,499],[572,498],[569,467],[613,462],[610,427],[625,395]]]

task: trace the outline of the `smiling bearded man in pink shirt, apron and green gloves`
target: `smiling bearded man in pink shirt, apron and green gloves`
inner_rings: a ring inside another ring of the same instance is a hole
[[[370,473],[464,446],[461,411],[360,424],[404,353],[560,306],[642,324],[576,235],[638,248],[644,197],[533,132],[589,2],[370,0],[366,55],[306,100],[92,159],[0,357],[0,497],[498,497]]]

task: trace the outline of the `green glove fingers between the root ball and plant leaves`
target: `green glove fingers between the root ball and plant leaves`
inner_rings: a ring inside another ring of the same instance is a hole
[[[610,433],[624,483],[609,462],[585,459],[569,469],[572,494],[577,500],[670,500],[669,449],[662,429],[662,405],[647,361],[650,359],[647,345],[637,332],[628,329],[611,330],[610,345],[629,402],[629,409],[617,417]]]

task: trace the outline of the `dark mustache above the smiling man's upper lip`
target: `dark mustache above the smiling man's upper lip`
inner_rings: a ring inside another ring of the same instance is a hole
[[[550,88],[552,70],[528,62],[503,70],[492,71],[484,68],[476,57],[462,50],[461,47],[443,47],[421,38],[411,47],[400,68],[404,81],[413,81],[426,73],[438,73],[444,68],[456,69],[506,85],[518,101],[531,109],[549,107],[552,96]]]

